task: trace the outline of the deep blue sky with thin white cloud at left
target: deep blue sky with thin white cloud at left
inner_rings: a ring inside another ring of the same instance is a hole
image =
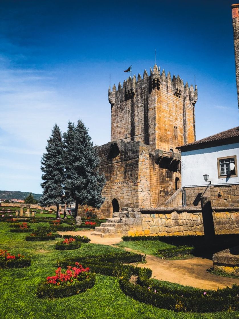
[[[238,126],[229,1],[1,0],[0,189],[41,193],[57,123],[110,141],[111,86],[157,64],[198,85],[196,138]]]

